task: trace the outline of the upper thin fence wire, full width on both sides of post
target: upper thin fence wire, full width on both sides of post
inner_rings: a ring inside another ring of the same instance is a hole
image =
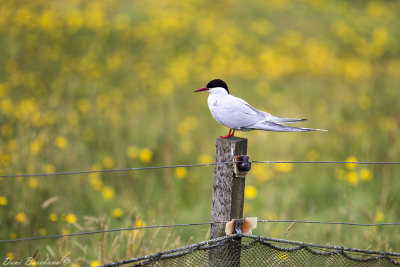
[[[18,177],[38,177],[38,176],[55,176],[55,175],[74,175],[74,174],[90,174],[90,173],[104,173],[104,172],[126,172],[126,171],[140,171],[140,170],[154,170],[154,169],[171,169],[171,168],[189,168],[189,167],[203,167],[213,165],[232,164],[240,161],[226,161],[206,164],[188,164],[188,165],[171,165],[171,166],[153,166],[153,167],[138,167],[138,168],[124,168],[124,169],[110,169],[110,170],[93,170],[93,171],[69,171],[69,172],[53,172],[53,173],[35,173],[35,174],[9,174],[0,175],[0,178],[18,178]],[[380,165],[399,165],[400,162],[378,162],[378,161],[261,161],[253,160],[252,163],[267,163],[267,164],[380,164]]]

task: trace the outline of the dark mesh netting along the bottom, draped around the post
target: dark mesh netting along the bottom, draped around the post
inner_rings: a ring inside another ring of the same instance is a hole
[[[399,253],[232,235],[106,266],[398,266]]]

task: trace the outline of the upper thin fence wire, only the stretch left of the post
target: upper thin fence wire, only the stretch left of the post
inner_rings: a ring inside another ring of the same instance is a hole
[[[71,171],[71,172],[53,172],[53,173],[36,173],[36,174],[10,174],[0,175],[0,178],[17,178],[17,177],[32,177],[32,176],[54,176],[54,175],[68,175],[68,174],[89,174],[89,173],[102,173],[102,172],[123,172],[123,171],[140,171],[140,170],[154,170],[154,169],[171,169],[171,168],[189,168],[189,167],[203,167],[212,165],[232,164],[233,161],[216,162],[207,164],[190,164],[190,165],[173,165],[173,166],[156,166],[156,167],[138,167],[138,168],[125,168],[125,169],[111,169],[111,170],[95,170],[95,171]]]

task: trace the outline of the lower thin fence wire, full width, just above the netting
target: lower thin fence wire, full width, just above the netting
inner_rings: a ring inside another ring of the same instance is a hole
[[[38,236],[38,237],[5,239],[5,240],[0,240],[0,243],[21,242],[21,241],[32,241],[32,240],[40,240],[40,239],[51,239],[51,238],[81,236],[81,235],[89,235],[89,234],[101,234],[101,233],[110,233],[110,232],[119,232],[119,231],[132,231],[132,230],[142,230],[142,229],[151,229],[151,228],[167,228],[167,227],[183,227],[183,226],[210,225],[210,224],[220,224],[220,223],[227,223],[227,222],[228,222],[228,221],[220,221],[220,222],[202,222],[202,223],[185,223],[185,224],[154,225],[154,226],[142,226],[142,227],[121,228],[121,229],[98,230],[98,231],[90,231],[90,232],[82,232],[82,233],[73,233],[73,234],[65,234],[65,235],[51,235],[51,236]],[[262,223],[340,224],[340,225],[347,225],[347,226],[364,226],[364,227],[400,225],[400,223],[374,223],[374,224],[366,224],[366,223],[319,222],[319,221],[302,221],[302,220],[257,220],[257,222],[262,222]]]

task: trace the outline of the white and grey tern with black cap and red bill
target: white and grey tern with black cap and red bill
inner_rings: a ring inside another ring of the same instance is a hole
[[[208,107],[214,119],[226,127],[229,133],[221,138],[234,136],[235,131],[264,130],[275,132],[326,131],[312,128],[290,127],[282,124],[305,121],[271,115],[250,106],[246,101],[229,94],[226,83],[220,79],[210,81],[206,87],[194,92],[208,91]]]

